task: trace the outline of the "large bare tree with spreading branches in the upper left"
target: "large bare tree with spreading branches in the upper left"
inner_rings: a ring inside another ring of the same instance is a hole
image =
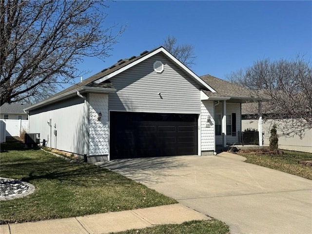
[[[54,93],[81,75],[85,57],[104,59],[124,30],[104,27],[101,0],[0,0],[0,105]]]

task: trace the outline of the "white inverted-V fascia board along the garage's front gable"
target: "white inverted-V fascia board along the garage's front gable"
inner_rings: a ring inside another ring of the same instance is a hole
[[[172,59],[173,61],[175,61],[181,68],[183,68],[188,74],[190,74],[193,78],[195,78],[199,83],[201,83],[204,87],[206,87],[207,89],[209,89],[211,92],[215,93],[216,91],[210,87],[205,81],[203,81],[201,78],[199,78],[194,72],[192,72],[188,67],[186,67],[183,63],[181,63],[178,59],[176,59],[172,54],[170,54],[167,50],[165,50],[163,47],[158,48],[157,50],[153,51],[150,54],[147,54],[146,56],[143,56],[140,59],[137,59],[136,61],[129,63],[127,66],[124,66],[120,69],[118,69],[115,72],[112,72],[110,74],[108,74],[105,77],[99,78],[98,80],[94,81],[95,83],[101,83],[109,78],[112,78],[116,75],[118,75],[121,72],[126,71],[127,69],[137,65],[138,63],[151,58],[152,56],[158,54],[159,52],[163,52],[165,55],[167,55],[170,59]]]

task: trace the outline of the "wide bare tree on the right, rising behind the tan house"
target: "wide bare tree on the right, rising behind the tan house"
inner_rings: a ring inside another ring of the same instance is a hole
[[[312,66],[304,57],[258,60],[227,78],[262,98],[265,117],[274,119],[284,135],[303,137],[312,128]]]

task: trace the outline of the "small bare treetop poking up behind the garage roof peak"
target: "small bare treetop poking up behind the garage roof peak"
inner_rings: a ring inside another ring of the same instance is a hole
[[[176,59],[179,59],[185,66],[191,67],[195,64],[194,60],[196,56],[193,45],[177,45],[177,39],[175,37],[168,36],[164,40],[163,47],[175,56]]]

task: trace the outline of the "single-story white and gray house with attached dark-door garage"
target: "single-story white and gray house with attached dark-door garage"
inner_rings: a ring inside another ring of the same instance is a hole
[[[90,162],[214,155],[238,142],[249,93],[198,77],[163,47],[113,66],[25,109],[29,132]]]

